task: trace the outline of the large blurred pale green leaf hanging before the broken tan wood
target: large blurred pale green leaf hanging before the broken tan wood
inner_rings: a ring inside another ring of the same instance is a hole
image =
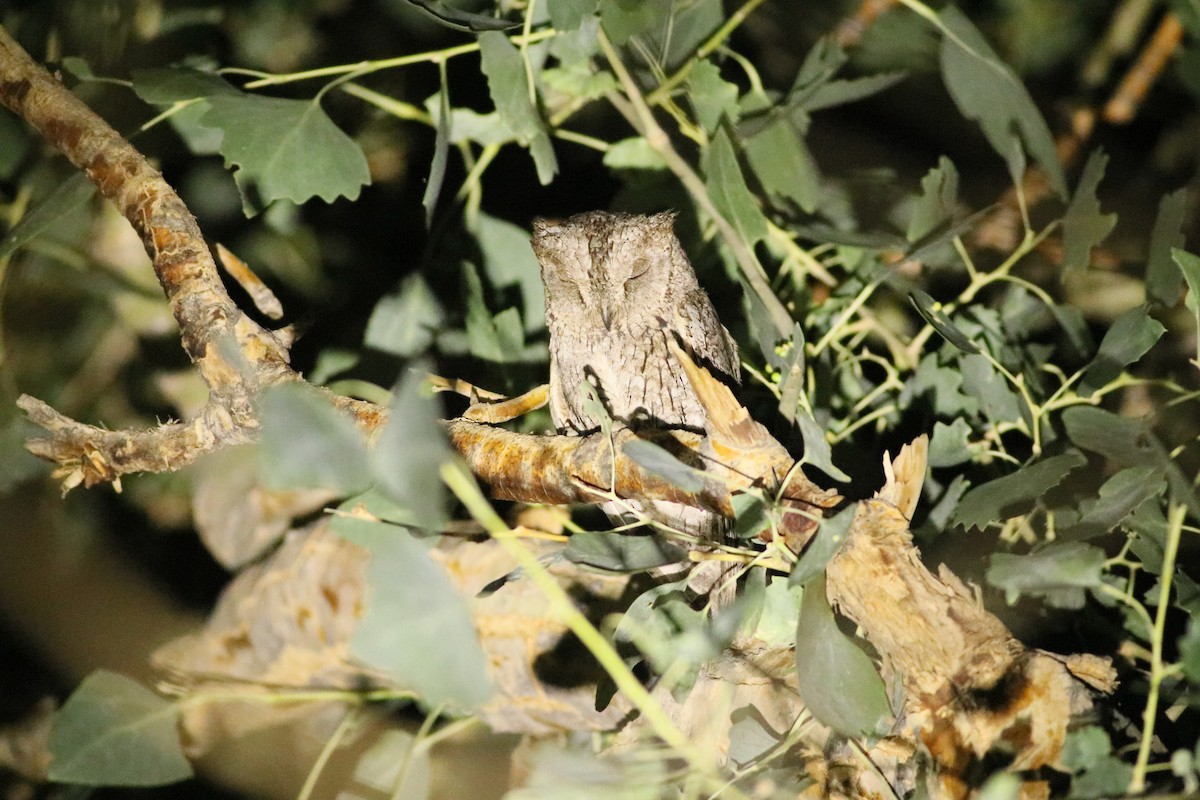
[[[402,528],[334,517],[334,530],[371,551],[366,613],[350,655],[416,692],[427,706],[470,711],[492,696],[467,600]]]

